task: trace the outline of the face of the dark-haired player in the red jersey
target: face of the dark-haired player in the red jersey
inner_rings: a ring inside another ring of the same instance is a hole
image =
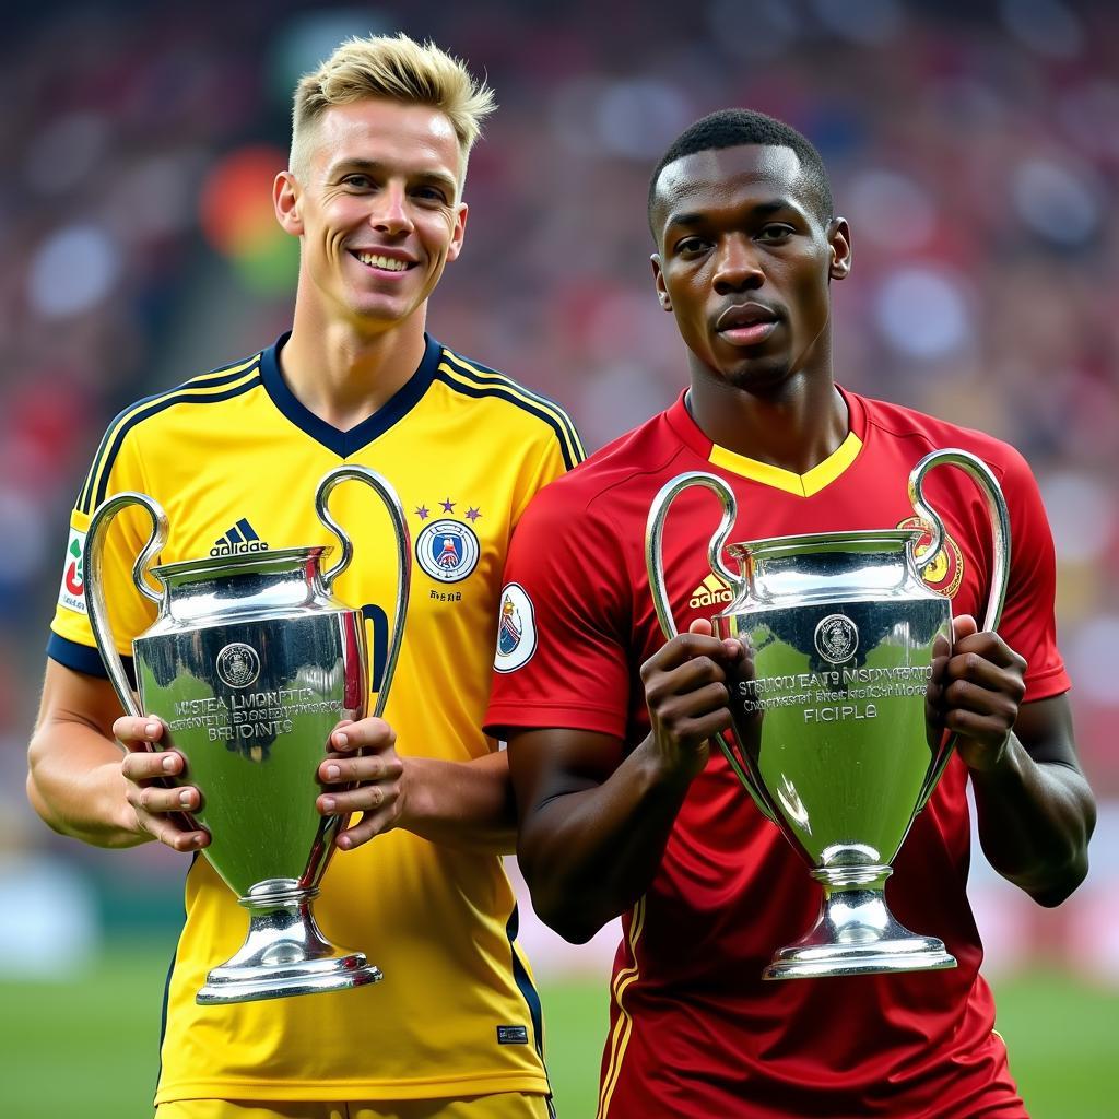
[[[830,279],[850,263],[847,223],[825,226],[791,148],[743,144],[669,163],[653,207],[661,304],[694,358],[755,392],[830,369]]]

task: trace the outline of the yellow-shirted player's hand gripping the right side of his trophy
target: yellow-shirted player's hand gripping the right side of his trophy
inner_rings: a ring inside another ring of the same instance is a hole
[[[319,780],[327,788],[316,807],[323,816],[361,814],[335,840],[342,850],[352,850],[399,820],[404,763],[396,755],[396,732],[383,718],[339,723],[330,732],[329,749],[319,765]]]

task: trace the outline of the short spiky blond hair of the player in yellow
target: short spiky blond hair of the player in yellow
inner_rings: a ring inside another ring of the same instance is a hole
[[[354,36],[295,86],[289,158],[293,173],[307,169],[307,137],[314,122],[331,105],[349,105],[366,97],[431,105],[445,113],[459,140],[462,176],[482,122],[497,109],[486,82],[477,81],[466,63],[434,43],[416,43],[403,31]]]

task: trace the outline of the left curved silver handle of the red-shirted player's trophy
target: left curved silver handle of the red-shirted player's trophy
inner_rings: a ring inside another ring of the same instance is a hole
[[[645,526],[645,568],[649,576],[649,590],[652,592],[652,605],[657,612],[657,621],[660,622],[661,632],[669,641],[679,631],[676,628],[676,620],[673,618],[673,608],[668,602],[668,587],[665,584],[665,521],[668,519],[671,504],[680,493],[693,486],[702,486],[704,489],[711,490],[723,507],[723,519],[718,523],[718,528],[715,529],[715,535],[712,536],[711,543],[707,545],[707,560],[711,563],[711,570],[734,590],[735,595],[742,586],[742,580],[723,562],[723,548],[726,546],[726,539],[731,535],[731,529],[739,515],[739,505],[734,499],[733,490],[722,478],[702,470],[689,470],[687,473],[677,474],[676,478],[666,482],[660,488],[660,492],[652,499],[652,505],[649,507],[649,519]],[[726,740],[726,735],[716,731],[714,737],[718,743],[718,749],[723,751],[723,756],[726,758],[734,771],[734,775],[750,793],[758,810],[767,819],[773,820],[773,812],[765,803],[753,777],[739,761]]]

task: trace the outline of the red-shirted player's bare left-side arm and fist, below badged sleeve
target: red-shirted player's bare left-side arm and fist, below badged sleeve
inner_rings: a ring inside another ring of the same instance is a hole
[[[724,669],[741,646],[695,628],[642,666],[650,733],[628,756],[606,734],[508,732],[517,857],[533,908],[567,940],[589,940],[646,892],[707,740],[730,726]]]

